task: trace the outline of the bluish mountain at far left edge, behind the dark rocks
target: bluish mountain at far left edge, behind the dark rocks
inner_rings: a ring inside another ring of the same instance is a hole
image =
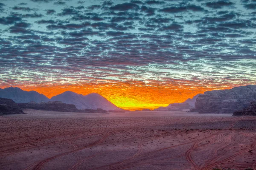
[[[36,91],[23,91],[17,87],[9,87],[0,89],[0,97],[12,99],[16,103],[28,102],[47,102],[49,99],[44,94],[39,94]]]

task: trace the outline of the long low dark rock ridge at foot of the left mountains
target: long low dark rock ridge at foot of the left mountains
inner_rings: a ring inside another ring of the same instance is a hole
[[[59,112],[80,112],[75,105],[63,102],[41,102],[41,103],[17,103],[22,109],[35,109],[41,111],[59,111]]]

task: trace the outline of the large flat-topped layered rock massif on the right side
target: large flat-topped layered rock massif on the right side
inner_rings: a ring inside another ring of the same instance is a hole
[[[233,113],[247,108],[252,101],[256,101],[256,85],[207,91],[198,96],[195,108],[190,109],[190,111],[198,113]]]

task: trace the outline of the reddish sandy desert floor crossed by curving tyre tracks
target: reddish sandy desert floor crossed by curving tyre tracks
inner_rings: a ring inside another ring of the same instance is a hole
[[[0,116],[0,170],[256,170],[256,117],[25,112]]]

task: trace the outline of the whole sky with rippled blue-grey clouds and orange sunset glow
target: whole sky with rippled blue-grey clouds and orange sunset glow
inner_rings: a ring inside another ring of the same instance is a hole
[[[118,107],[256,84],[256,0],[0,0],[0,88]]]

